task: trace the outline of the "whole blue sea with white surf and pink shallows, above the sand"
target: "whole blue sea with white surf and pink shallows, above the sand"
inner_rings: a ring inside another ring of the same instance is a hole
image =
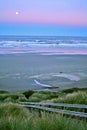
[[[87,54],[87,37],[0,36],[0,54]]]

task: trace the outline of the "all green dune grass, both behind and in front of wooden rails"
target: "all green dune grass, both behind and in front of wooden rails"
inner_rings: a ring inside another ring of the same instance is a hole
[[[85,120],[59,114],[38,112],[18,106],[19,101],[51,101],[87,104],[87,89],[68,89],[62,92],[9,93],[0,91],[0,130],[87,130]]]

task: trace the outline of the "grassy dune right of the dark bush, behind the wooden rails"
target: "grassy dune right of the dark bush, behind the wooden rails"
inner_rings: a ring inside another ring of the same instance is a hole
[[[35,92],[28,98],[28,101],[87,104],[87,88],[71,88],[61,92]]]

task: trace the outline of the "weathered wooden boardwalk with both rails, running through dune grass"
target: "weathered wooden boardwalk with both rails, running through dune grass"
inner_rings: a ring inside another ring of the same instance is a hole
[[[52,106],[63,106],[63,107],[70,107],[70,108],[82,108],[87,109],[87,105],[84,104],[65,104],[65,103],[34,103],[34,102],[20,102],[20,105],[28,108],[28,109],[35,109],[40,111],[47,111],[47,112],[54,112],[54,113],[60,113],[64,115],[70,115],[75,117],[82,117],[87,118],[86,112],[77,112],[77,111],[71,111],[71,110],[63,110],[63,109],[57,109],[52,108]],[[50,108],[49,108],[50,106]]]

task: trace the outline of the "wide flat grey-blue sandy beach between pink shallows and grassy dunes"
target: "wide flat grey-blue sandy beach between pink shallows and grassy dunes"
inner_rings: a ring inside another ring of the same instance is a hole
[[[8,91],[87,87],[87,55],[0,55],[0,89]],[[39,82],[39,84],[37,82]],[[44,85],[43,85],[44,84]]]

